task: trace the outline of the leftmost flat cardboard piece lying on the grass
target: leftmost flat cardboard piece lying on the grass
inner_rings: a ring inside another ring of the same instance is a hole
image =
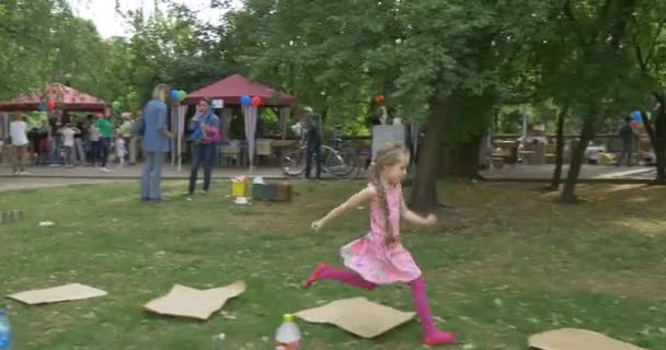
[[[106,295],[106,292],[79,283],[70,283],[60,287],[25,291],[7,298],[20,301],[28,305],[70,302]]]

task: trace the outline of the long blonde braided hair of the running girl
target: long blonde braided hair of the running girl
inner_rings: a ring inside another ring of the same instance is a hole
[[[377,205],[383,214],[386,245],[397,243],[398,237],[395,236],[394,228],[391,225],[387,189],[381,183],[381,173],[388,167],[400,163],[406,154],[407,150],[402,144],[387,144],[377,151],[375,163],[370,168],[370,184],[377,189]]]

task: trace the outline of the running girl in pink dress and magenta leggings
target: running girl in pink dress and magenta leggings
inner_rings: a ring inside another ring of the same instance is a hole
[[[433,324],[421,269],[400,243],[401,219],[424,226],[437,223],[434,214],[423,218],[405,206],[401,183],[407,165],[409,153],[402,145],[382,148],[377,152],[368,187],[312,223],[312,229],[320,230],[343,212],[371,201],[370,232],[341,249],[344,264],[352,270],[337,270],[321,262],[306,282],[306,288],[319,280],[336,280],[369,291],[377,284],[407,283],[421,318],[423,342],[428,346],[452,343],[456,334],[440,331]]]

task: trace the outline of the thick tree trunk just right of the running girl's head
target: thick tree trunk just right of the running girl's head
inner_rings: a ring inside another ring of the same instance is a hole
[[[427,129],[418,150],[416,177],[412,186],[412,208],[425,213],[439,203],[437,198],[437,175],[441,163],[440,142],[447,118],[447,102],[430,104]]]

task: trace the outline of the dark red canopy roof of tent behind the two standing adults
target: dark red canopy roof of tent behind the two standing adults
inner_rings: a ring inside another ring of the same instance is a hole
[[[296,104],[295,96],[254,83],[241,74],[230,75],[188,94],[183,104],[193,105],[203,97],[210,97],[222,98],[225,105],[240,105],[244,95],[261,97],[262,106],[279,107]]]

